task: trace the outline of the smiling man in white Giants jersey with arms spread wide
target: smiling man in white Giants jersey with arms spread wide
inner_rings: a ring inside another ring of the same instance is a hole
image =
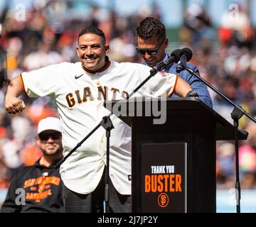
[[[6,111],[16,114],[26,106],[18,96],[50,96],[55,99],[67,155],[85,135],[109,114],[105,100],[126,99],[146,77],[150,67],[112,62],[109,46],[98,28],[85,28],[78,36],[80,62],[63,62],[23,72],[11,81]],[[82,64],[81,64],[82,63]],[[186,96],[191,87],[175,74],[158,73],[139,89],[137,96]],[[112,212],[131,211],[131,130],[116,116],[110,138],[110,204]],[[106,165],[105,129],[99,128],[60,166],[67,212],[102,212]]]

